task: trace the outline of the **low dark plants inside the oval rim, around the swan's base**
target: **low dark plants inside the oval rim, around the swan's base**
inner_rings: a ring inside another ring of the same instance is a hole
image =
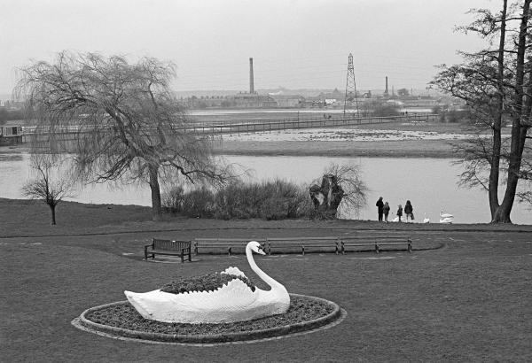
[[[334,307],[325,302],[305,297],[291,297],[290,308],[286,313],[272,315],[254,321],[238,321],[222,324],[183,324],[150,321],[144,319],[129,304],[107,306],[106,308],[88,313],[86,318],[89,321],[114,328],[149,333],[214,336],[226,333],[251,332],[254,330],[312,321],[332,313],[333,310]]]

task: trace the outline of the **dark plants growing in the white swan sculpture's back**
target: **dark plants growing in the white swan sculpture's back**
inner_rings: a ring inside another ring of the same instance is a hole
[[[247,277],[237,276],[236,274],[200,274],[199,276],[182,277],[179,280],[169,282],[160,288],[161,291],[171,294],[181,294],[192,291],[213,291],[223,287],[224,284],[231,280],[239,279],[246,283],[254,291],[254,283]]]

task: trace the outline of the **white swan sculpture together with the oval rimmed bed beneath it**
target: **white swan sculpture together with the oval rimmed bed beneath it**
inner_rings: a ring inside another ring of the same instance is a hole
[[[247,243],[246,258],[270,290],[250,286],[239,268],[229,267],[221,273],[223,281],[228,282],[215,290],[125,291],[129,303],[88,309],[73,324],[108,336],[203,344],[262,339],[330,327],[345,315],[331,301],[288,294],[281,283],[256,265],[253,252],[264,254],[260,243]]]

